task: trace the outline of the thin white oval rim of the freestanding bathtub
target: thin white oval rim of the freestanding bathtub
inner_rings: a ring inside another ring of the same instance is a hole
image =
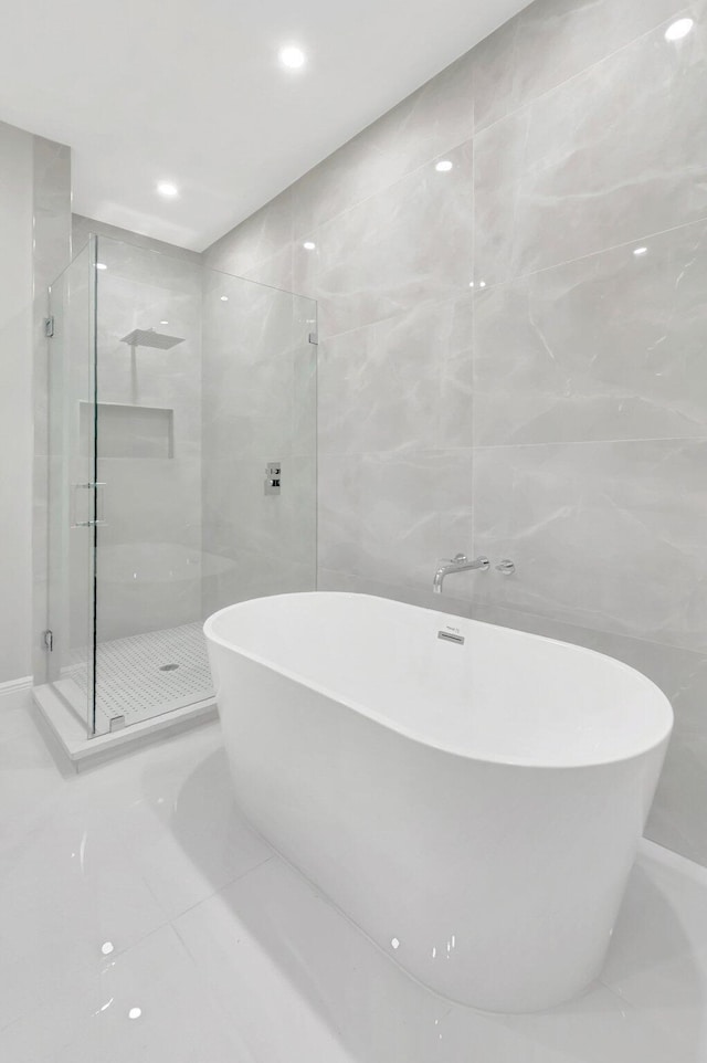
[[[284,593],[284,594],[264,594],[257,598],[249,598],[249,599],[245,599],[244,601],[233,602],[230,606],[224,606],[222,609],[217,610],[214,613],[211,613],[211,615],[207,618],[207,620],[203,623],[203,629],[202,629],[203,634],[204,634],[204,638],[207,639],[207,642],[212,642],[212,643],[215,643],[217,645],[222,646],[224,650],[230,650],[233,653],[236,653],[240,656],[245,657],[246,660],[261,665],[262,667],[268,669],[271,672],[275,672],[278,675],[284,676],[291,682],[296,683],[298,686],[303,686],[306,690],[315,691],[317,694],[320,694],[323,697],[326,697],[329,701],[333,701],[335,703],[346,706],[349,709],[352,709],[355,713],[358,713],[360,716],[365,717],[366,719],[369,719],[374,724],[379,724],[381,727],[386,727],[388,730],[392,730],[394,734],[399,734],[403,738],[407,738],[410,741],[414,741],[416,745],[424,746],[428,749],[435,749],[437,752],[442,752],[446,756],[457,757],[462,760],[471,761],[472,764],[494,765],[502,768],[507,767],[513,769],[525,768],[531,771],[538,771],[538,770],[579,771],[584,769],[605,768],[605,767],[611,767],[612,765],[613,766],[627,765],[627,764],[631,764],[633,760],[637,760],[640,758],[646,757],[651,752],[655,751],[656,749],[659,749],[661,746],[663,746],[664,744],[667,744],[673,733],[673,728],[675,725],[675,713],[673,711],[673,706],[671,705],[671,702],[666,696],[666,694],[661,690],[661,687],[656,683],[653,682],[653,680],[650,680],[647,675],[644,675],[643,672],[639,672],[637,669],[632,667],[630,664],[626,664],[624,661],[620,661],[618,657],[612,657],[608,653],[601,653],[599,650],[591,650],[588,646],[577,645],[573,642],[563,642],[561,639],[550,639],[547,635],[538,635],[529,631],[521,631],[519,628],[507,628],[506,625],[489,623],[488,621],[485,621],[485,620],[474,620],[471,617],[456,617],[456,619],[466,621],[473,624],[479,624],[484,628],[500,629],[502,631],[513,631],[516,634],[521,635],[523,638],[527,638],[534,641],[541,640],[542,642],[547,642],[552,645],[569,646],[571,650],[577,651],[578,653],[581,653],[585,656],[589,655],[592,657],[599,657],[602,661],[610,661],[612,665],[621,669],[626,673],[631,673],[632,677],[636,682],[640,682],[640,685],[644,686],[653,698],[655,698],[656,695],[658,697],[658,701],[661,703],[661,708],[665,715],[665,725],[663,725],[661,728],[662,733],[659,737],[640,745],[634,751],[632,751],[627,756],[610,756],[610,757],[603,757],[603,758],[594,758],[591,760],[589,759],[581,760],[579,762],[570,762],[570,764],[557,764],[557,762],[547,764],[547,762],[544,762],[540,758],[530,760],[528,758],[520,759],[520,758],[515,758],[509,756],[498,756],[498,757],[492,757],[486,755],[475,756],[472,752],[466,752],[462,749],[447,746],[444,743],[428,738],[421,735],[420,733],[416,733],[412,728],[397,724],[393,720],[391,720],[389,717],[383,716],[381,713],[378,713],[371,708],[367,708],[363,704],[356,701],[355,698],[347,697],[336,691],[330,690],[329,687],[325,686],[321,683],[318,683],[314,680],[309,680],[308,677],[297,672],[293,672],[289,669],[283,667],[276,664],[273,660],[264,657],[258,653],[253,653],[250,650],[244,650],[242,646],[239,646],[236,643],[229,642],[228,640],[225,640],[224,638],[222,638],[221,635],[217,634],[213,631],[213,625],[218,622],[219,618],[223,617],[225,613],[230,613],[241,608],[245,608],[252,604],[253,602],[261,602],[261,601],[274,602],[281,599],[292,599],[292,598],[305,599],[305,598],[321,598],[321,597],[365,598],[365,599],[371,599],[372,601],[382,601],[389,604],[392,603],[395,606],[402,606],[405,609],[421,610],[422,612],[432,613],[433,615],[436,615],[436,617],[455,615],[452,613],[442,612],[441,610],[437,610],[437,609],[431,609],[426,606],[413,606],[408,602],[400,601],[395,598],[383,598],[380,594],[361,594],[354,591],[318,591],[318,590],[292,591],[289,593]],[[218,684],[217,684],[217,699],[218,699]]]

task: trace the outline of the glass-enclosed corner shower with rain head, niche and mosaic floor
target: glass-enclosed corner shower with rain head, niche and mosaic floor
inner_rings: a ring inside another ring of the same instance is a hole
[[[80,761],[214,711],[215,609],[314,589],[317,308],[92,235],[49,315],[34,696]]]

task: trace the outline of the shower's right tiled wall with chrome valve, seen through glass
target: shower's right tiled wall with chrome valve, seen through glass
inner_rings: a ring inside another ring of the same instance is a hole
[[[204,271],[203,613],[316,587],[317,307]]]

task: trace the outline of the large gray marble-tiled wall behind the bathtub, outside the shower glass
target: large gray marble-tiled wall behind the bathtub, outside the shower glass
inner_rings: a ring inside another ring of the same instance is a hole
[[[706,113],[705,0],[536,0],[205,252],[318,299],[319,587],[514,558],[445,607],[652,675],[703,863]]]

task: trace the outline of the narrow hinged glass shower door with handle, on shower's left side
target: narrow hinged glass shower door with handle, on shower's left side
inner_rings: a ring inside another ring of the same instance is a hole
[[[49,680],[91,735],[95,709],[95,240],[50,288]]]

